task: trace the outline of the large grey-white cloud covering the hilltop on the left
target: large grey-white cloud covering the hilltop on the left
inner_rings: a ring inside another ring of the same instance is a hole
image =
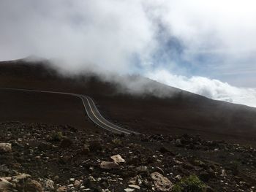
[[[3,0],[0,25],[1,60],[39,55],[69,70],[126,71],[134,54],[146,58],[154,46],[140,1]]]

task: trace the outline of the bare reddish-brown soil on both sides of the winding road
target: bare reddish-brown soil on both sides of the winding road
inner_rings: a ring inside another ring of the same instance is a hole
[[[0,87],[87,94],[97,102],[100,112],[106,118],[142,133],[200,134],[208,139],[256,145],[255,108],[206,99],[168,86],[165,88],[176,94],[167,99],[130,96],[116,93],[115,85],[102,82],[97,77],[59,77],[56,72],[45,69],[41,64],[9,61],[0,63]],[[83,119],[84,111],[78,99],[41,94],[42,102],[34,98],[32,104],[38,107],[29,107],[33,109],[26,110],[25,115],[22,115],[24,107],[17,110],[14,99],[19,99],[20,106],[27,106],[29,100],[26,100],[26,96],[6,91],[0,93],[1,103],[7,103],[0,109],[0,121],[12,118],[18,120],[17,117],[20,117],[20,120],[25,118],[31,122],[59,124],[65,120],[64,123],[78,128],[83,127],[83,123],[85,126],[88,124]],[[7,108],[9,114],[5,114]]]

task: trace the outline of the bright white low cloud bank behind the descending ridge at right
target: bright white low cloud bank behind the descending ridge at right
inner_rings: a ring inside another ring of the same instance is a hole
[[[171,74],[165,69],[148,72],[146,77],[210,99],[256,107],[256,88],[238,88],[227,82],[211,80],[206,77],[184,77]]]

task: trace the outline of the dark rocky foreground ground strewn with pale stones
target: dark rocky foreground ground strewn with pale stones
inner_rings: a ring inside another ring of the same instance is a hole
[[[0,133],[0,191],[256,191],[250,146],[43,123],[0,123]]]

